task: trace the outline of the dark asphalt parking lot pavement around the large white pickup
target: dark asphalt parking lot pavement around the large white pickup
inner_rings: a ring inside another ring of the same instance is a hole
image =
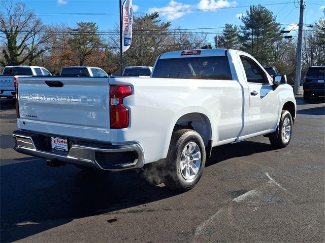
[[[213,149],[176,193],[134,171],[89,173],[15,152],[14,99],[0,99],[1,241],[324,242],[325,106],[297,96],[288,147],[257,137]]]

